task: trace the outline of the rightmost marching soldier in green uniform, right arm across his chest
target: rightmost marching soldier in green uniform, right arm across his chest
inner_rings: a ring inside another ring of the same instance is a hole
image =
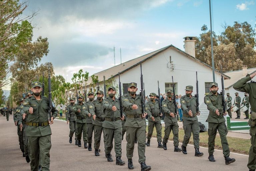
[[[214,152],[214,144],[215,138],[217,134],[217,130],[220,134],[221,145],[223,149],[223,154],[225,157],[225,163],[230,164],[235,162],[236,160],[233,158],[229,158],[230,150],[228,147],[227,141],[227,133],[228,129],[225,124],[224,116],[227,113],[223,113],[223,106],[222,106],[222,96],[218,93],[218,84],[211,83],[210,84],[210,93],[204,97],[204,103],[207,105],[207,109],[209,110],[209,115],[207,118],[207,122],[209,123],[208,128],[208,153],[209,153],[209,161],[215,162],[213,152]]]

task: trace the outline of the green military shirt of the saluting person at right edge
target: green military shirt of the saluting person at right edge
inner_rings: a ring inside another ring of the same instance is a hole
[[[246,92],[249,94],[249,102],[251,105],[251,111],[256,112],[256,83],[255,82],[247,83],[250,80],[251,80],[250,76],[242,78],[241,80],[238,80],[233,85],[233,88],[237,91]],[[251,118],[249,119],[248,124],[251,126]],[[252,134],[255,134],[256,128],[251,127],[250,131],[252,132]]]

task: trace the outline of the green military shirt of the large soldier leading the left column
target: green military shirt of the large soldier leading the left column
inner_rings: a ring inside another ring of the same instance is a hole
[[[25,99],[23,103],[23,111],[27,114],[27,123],[44,123],[49,121],[49,100],[47,97],[41,96],[41,100],[36,100],[35,96]],[[33,113],[29,113],[29,108],[33,108]],[[52,117],[56,118],[58,110],[52,105]],[[52,134],[50,125],[46,126],[30,126],[26,127],[26,135],[31,137],[40,137]]]

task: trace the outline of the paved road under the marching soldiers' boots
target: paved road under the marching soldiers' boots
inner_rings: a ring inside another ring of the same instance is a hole
[[[10,116],[12,118],[13,115]],[[68,143],[69,127],[66,122],[55,120],[51,125],[52,129],[52,148],[50,152],[52,171],[128,171],[126,158],[126,141],[123,141],[123,157],[126,162],[124,166],[115,165],[115,154],[112,152],[114,162],[107,162],[103,152],[103,142],[101,143],[102,152],[100,156],[94,156],[94,150],[88,151],[82,147],[77,147]],[[182,131],[182,130],[180,130]],[[22,157],[19,149],[17,127],[14,126],[13,119],[8,122],[0,115],[0,171],[29,171],[30,166]],[[216,162],[209,162],[207,148],[200,148],[205,155],[202,157],[194,156],[193,146],[188,146],[188,154],[173,152],[173,143],[168,142],[168,150],[157,148],[156,139],[152,139],[151,146],[146,147],[146,163],[152,166],[153,171],[246,171],[248,156],[231,154],[236,158],[236,162],[225,165],[222,151],[216,150],[214,157]],[[181,146],[181,145],[180,145]],[[137,145],[134,149],[134,171],[140,170],[138,163]]]

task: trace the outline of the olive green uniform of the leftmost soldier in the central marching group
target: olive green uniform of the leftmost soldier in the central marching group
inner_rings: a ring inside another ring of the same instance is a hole
[[[74,105],[69,104],[66,108],[66,119],[69,121],[69,137],[73,137],[75,133],[75,140],[77,140],[77,126],[76,114],[73,111]]]

